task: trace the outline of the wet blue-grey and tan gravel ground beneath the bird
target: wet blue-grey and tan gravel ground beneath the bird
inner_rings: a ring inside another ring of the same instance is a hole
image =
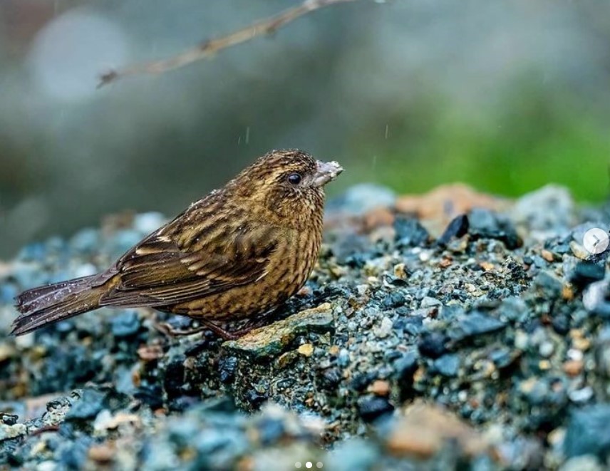
[[[147,309],[9,338],[21,290],[103,269],[164,221],[122,214],[0,263],[0,468],[602,470],[606,207],[353,187],[308,284],[237,341]]]

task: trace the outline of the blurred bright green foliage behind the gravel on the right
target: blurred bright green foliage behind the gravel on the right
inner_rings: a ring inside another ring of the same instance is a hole
[[[554,90],[541,74],[512,83],[492,109],[420,95],[408,114],[387,124],[385,145],[363,135],[353,152],[356,180],[376,180],[400,193],[467,182],[516,197],[549,182],[569,187],[577,200],[609,197],[610,130],[606,109],[582,109],[569,90]],[[599,108],[603,108],[600,106]],[[380,127],[381,128],[381,127]],[[375,143],[375,146],[367,143]]]

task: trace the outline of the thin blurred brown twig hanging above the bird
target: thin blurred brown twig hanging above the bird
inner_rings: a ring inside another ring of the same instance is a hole
[[[188,64],[196,61],[201,61],[205,58],[210,58],[214,55],[214,53],[222,51],[222,49],[245,43],[246,41],[256,38],[257,36],[271,34],[280,29],[282,26],[286,26],[286,24],[299,19],[301,16],[304,16],[311,11],[319,10],[334,4],[346,3],[348,1],[356,0],[305,0],[299,6],[294,6],[293,8],[286,9],[275,16],[257,21],[246,28],[227,34],[227,36],[205,41],[199,46],[179,53],[176,56],[161,59],[159,61],[150,61],[118,70],[108,71],[100,77],[98,88],[108,85],[108,83],[117,81],[123,77],[137,76],[145,73],[164,73],[167,71],[172,71],[175,68],[187,66]]]

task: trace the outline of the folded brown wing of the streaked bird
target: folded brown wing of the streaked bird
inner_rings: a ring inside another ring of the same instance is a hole
[[[276,229],[252,223],[232,229],[226,222],[204,222],[193,225],[185,237],[185,228],[177,227],[179,221],[121,257],[115,266],[120,281],[101,304],[167,306],[222,293],[267,274],[278,243]]]

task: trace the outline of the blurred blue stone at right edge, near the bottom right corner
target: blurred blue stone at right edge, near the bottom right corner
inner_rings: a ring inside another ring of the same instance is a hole
[[[575,410],[569,420],[564,452],[568,457],[596,455],[606,460],[610,455],[610,405],[589,405]]]

